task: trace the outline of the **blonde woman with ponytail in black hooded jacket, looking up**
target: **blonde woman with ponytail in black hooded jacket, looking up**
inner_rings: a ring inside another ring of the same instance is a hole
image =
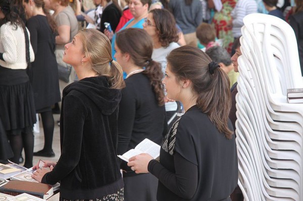
[[[97,47],[97,48],[96,48]],[[33,178],[60,183],[60,200],[123,199],[117,159],[118,108],[124,87],[121,66],[113,61],[111,43],[100,31],[84,29],[65,45],[63,61],[78,82],[63,90],[60,116],[61,156],[57,163],[35,166]]]

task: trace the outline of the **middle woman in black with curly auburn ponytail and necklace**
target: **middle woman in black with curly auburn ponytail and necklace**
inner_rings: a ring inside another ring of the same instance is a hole
[[[117,33],[117,61],[127,73],[119,108],[118,154],[134,149],[145,138],[161,144],[167,131],[163,74],[151,59],[153,41],[142,29],[129,28]],[[158,179],[151,174],[135,174],[122,161],[125,200],[157,200]]]

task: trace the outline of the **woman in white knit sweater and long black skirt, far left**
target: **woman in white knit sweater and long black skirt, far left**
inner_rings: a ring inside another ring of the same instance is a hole
[[[24,166],[29,168],[34,147],[32,127],[36,122],[28,76],[34,52],[29,32],[11,4],[10,0],[0,1],[0,119],[14,152],[11,160],[19,163],[23,145]]]

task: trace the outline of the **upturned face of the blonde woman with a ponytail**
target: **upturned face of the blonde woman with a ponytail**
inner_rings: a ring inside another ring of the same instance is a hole
[[[72,42],[67,43],[64,47],[63,61],[73,66],[81,65],[82,59],[85,56],[81,35],[77,34]]]

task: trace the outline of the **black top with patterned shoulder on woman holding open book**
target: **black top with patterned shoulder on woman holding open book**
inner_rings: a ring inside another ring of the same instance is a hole
[[[229,128],[232,125],[229,122]],[[228,140],[193,106],[178,119],[148,171],[159,179],[157,200],[229,200],[237,186],[235,138]]]

